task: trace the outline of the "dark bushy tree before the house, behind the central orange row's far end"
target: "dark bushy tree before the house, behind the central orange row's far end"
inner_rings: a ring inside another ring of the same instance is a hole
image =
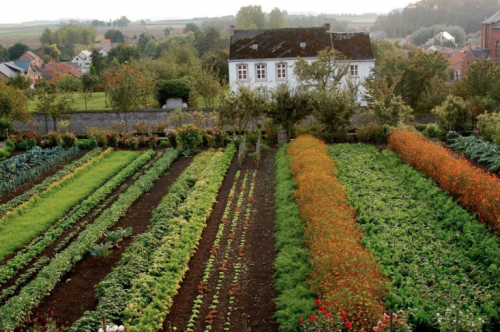
[[[278,85],[270,94],[271,100],[264,112],[290,137],[295,124],[313,112],[311,94],[307,87],[292,88],[288,83]]]

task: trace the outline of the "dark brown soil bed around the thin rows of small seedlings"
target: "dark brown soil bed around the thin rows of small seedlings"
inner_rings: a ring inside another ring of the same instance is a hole
[[[263,160],[259,166],[257,181],[254,193],[254,211],[252,213],[251,225],[246,234],[245,256],[242,263],[244,265],[241,272],[238,291],[236,293],[236,303],[232,312],[231,330],[239,331],[242,329],[242,315],[245,313],[250,316],[249,327],[251,331],[278,331],[278,326],[274,322],[273,315],[275,312],[274,298],[276,291],[273,288],[273,262],[276,258],[276,250],[274,249],[274,155],[276,150],[270,150],[263,155]],[[242,167],[240,181],[242,181],[244,172],[249,170],[251,175],[254,169],[253,161],[247,158]],[[247,182],[247,191],[250,186],[250,178]],[[181,285],[179,294],[174,298],[174,305],[171,308],[170,314],[164,324],[164,330],[167,328],[167,322],[172,322],[173,326],[177,327],[177,331],[183,331],[191,316],[193,301],[198,295],[197,285],[200,283],[205,268],[205,262],[209,257],[209,251],[217,228],[220,223],[222,211],[226,205],[227,195],[230,185],[224,192],[224,200],[218,201],[221,214],[215,218],[210,218],[209,224],[199,250],[192,258],[187,273],[186,279]],[[219,193],[219,195],[221,195]],[[238,193],[235,195],[237,199]],[[247,195],[247,194],[246,194]],[[246,201],[245,195],[245,201]],[[237,246],[241,239],[243,231],[244,212],[246,202],[241,207],[240,220],[236,229],[236,234],[231,245],[231,252],[227,264],[228,270],[225,272],[224,282],[219,293],[219,304],[217,313],[213,320],[213,331],[223,331],[224,320],[229,307],[229,290],[231,289],[232,279],[234,276],[234,264],[237,262],[238,250]],[[234,209],[234,208],[233,208]],[[226,243],[227,233],[230,225],[226,225],[227,230],[221,239],[221,248],[217,254],[214,264],[215,273],[212,272],[209,280],[207,291],[204,294],[203,305],[200,308],[195,331],[203,331],[206,324],[205,318],[209,313],[208,306],[211,304],[213,295],[215,294],[215,286],[218,278],[218,268],[220,266],[223,251],[223,244]]]

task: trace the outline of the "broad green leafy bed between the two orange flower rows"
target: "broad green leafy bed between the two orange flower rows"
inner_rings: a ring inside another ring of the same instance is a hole
[[[391,151],[335,145],[362,243],[390,278],[387,306],[403,309],[420,330],[497,331],[500,239],[431,179]],[[425,159],[425,157],[423,157]]]

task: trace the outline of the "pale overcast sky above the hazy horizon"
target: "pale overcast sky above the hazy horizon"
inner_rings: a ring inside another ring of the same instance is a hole
[[[0,24],[60,18],[108,21],[122,15],[133,21],[143,18],[214,17],[235,15],[241,6],[247,5],[261,5],[265,12],[278,7],[289,13],[386,13],[412,2],[416,0],[23,0],[4,4],[4,10],[0,10]]]

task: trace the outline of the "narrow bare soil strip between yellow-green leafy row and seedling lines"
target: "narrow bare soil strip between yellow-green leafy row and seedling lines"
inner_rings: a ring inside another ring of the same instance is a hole
[[[207,221],[207,227],[203,231],[200,243],[198,245],[198,250],[193,255],[193,257],[191,257],[191,260],[189,262],[189,270],[187,271],[184,280],[180,285],[179,293],[174,297],[173,305],[170,308],[170,312],[163,325],[163,331],[168,331],[168,322],[172,323],[172,327],[177,327],[178,332],[183,331],[182,329],[187,325],[189,317],[191,316],[193,301],[198,296],[198,284],[203,278],[205,263],[210,257],[210,250],[212,249],[212,244],[215,240],[215,236],[217,235],[219,224],[221,222],[222,215],[224,214],[224,209],[228,201],[229,192],[231,190],[231,187],[233,186],[234,177],[237,171],[238,159],[235,157],[233,159],[231,167],[226,174],[224,182],[222,183],[222,187],[219,190],[217,203],[215,203],[212,214]],[[244,174],[242,172],[239,179],[240,182],[243,181],[243,177]],[[237,200],[238,194],[239,192],[237,191],[234,196],[234,201]],[[233,202],[233,204],[235,203]],[[231,218],[232,215],[229,216],[229,220]],[[229,227],[229,225],[226,225],[227,229],[225,230],[225,233],[228,232]],[[226,234],[224,235],[223,239],[221,239],[221,244],[224,243],[223,241],[225,241],[225,237],[227,237]],[[217,255],[221,255],[223,250],[223,248],[220,248]],[[214,281],[210,280],[210,282],[213,283]],[[208,297],[205,297],[204,301],[209,301]],[[199,319],[204,319],[205,315],[205,312],[200,312],[198,317]]]

